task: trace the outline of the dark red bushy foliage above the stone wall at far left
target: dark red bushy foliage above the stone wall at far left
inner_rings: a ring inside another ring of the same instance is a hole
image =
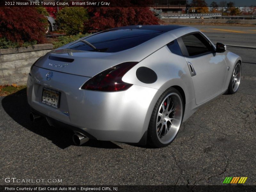
[[[44,16],[35,7],[0,7],[0,38],[23,43],[44,43]]]

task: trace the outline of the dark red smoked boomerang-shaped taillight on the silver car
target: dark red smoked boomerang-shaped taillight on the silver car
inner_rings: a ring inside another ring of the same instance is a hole
[[[81,89],[106,92],[127,90],[132,84],[124,83],[122,77],[137,63],[125,62],[108,68],[85,82]]]

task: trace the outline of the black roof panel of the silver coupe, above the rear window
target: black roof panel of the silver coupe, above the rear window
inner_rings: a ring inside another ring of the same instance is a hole
[[[130,25],[124,27],[112,28],[110,30],[118,30],[118,29],[142,29],[142,30],[157,30],[168,32],[178,28],[184,28],[185,26],[180,25]]]

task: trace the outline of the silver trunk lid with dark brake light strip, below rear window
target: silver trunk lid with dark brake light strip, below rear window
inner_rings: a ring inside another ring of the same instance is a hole
[[[119,57],[117,54],[60,49],[44,55],[36,62],[35,66],[62,73],[92,77],[126,61],[124,57]]]

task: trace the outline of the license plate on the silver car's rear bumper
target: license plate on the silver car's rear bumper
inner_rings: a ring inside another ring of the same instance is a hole
[[[49,88],[43,88],[42,103],[59,108],[60,105],[60,92]]]

